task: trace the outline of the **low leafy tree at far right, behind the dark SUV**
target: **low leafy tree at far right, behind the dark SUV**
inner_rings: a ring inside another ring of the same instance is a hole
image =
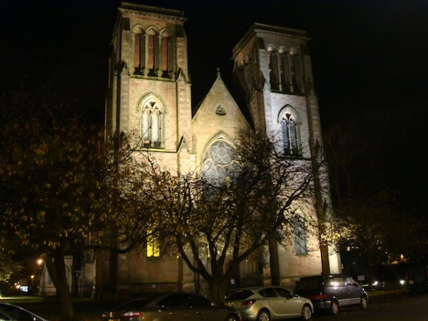
[[[406,262],[427,249],[426,222],[400,208],[392,193],[354,196],[336,214],[337,245],[344,261],[350,257],[352,265],[355,257],[362,260],[369,282],[376,265]]]

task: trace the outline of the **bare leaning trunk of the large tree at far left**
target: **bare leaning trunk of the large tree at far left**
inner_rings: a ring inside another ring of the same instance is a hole
[[[51,255],[44,255],[44,259],[49,276],[61,301],[61,321],[71,321],[74,317],[73,300],[68,287],[64,255],[61,250],[58,250]]]

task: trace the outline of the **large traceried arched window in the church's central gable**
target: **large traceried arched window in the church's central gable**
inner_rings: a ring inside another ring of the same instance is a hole
[[[229,183],[234,180],[235,150],[226,141],[218,140],[211,144],[202,161],[203,178],[211,183]]]

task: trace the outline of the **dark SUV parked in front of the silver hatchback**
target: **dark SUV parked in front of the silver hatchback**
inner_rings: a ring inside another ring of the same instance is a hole
[[[358,282],[342,274],[302,277],[295,292],[311,300],[315,311],[330,310],[333,314],[339,312],[340,307],[349,305],[360,305],[365,309],[369,300]]]

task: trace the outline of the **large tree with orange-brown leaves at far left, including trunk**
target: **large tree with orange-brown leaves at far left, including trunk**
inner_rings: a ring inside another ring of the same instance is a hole
[[[115,213],[108,199],[112,150],[103,131],[66,106],[24,93],[0,102],[0,245],[36,251],[73,319],[64,255],[97,244]]]

